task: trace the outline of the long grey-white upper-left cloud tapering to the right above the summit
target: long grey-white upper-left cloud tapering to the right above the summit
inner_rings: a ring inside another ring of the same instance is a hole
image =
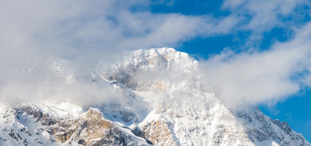
[[[216,19],[151,13],[150,4],[148,0],[4,0],[0,3],[0,48],[6,52],[14,49],[14,55],[34,49],[95,66],[106,54],[226,34],[237,22],[234,16]],[[132,11],[132,7],[141,9]]]

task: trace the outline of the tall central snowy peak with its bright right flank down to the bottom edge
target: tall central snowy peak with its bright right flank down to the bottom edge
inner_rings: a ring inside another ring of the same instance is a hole
[[[198,62],[172,48],[128,51],[110,65],[100,62],[96,72],[107,80],[115,80],[134,90],[146,101],[155,102],[151,104],[155,105],[154,110],[139,124],[139,128],[135,128],[137,135],[144,131],[143,137],[155,145],[207,145],[207,142],[212,142],[210,146],[309,146],[295,132],[291,133],[295,142],[286,137],[276,140],[256,136],[268,131],[282,131],[284,127],[271,119],[262,120],[251,128],[246,126],[243,121],[248,117],[238,114],[245,111],[228,109],[217,99],[212,87],[204,83]],[[151,99],[153,97],[157,99]],[[266,118],[260,110],[249,108],[246,111],[249,115],[259,116],[253,118]],[[264,131],[256,130],[256,127],[265,127],[267,123],[271,126]],[[159,141],[153,135],[165,137]]]

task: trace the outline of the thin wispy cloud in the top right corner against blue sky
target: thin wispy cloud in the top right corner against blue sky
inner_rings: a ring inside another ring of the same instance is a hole
[[[247,50],[260,46],[264,33],[273,28],[291,31],[303,25],[310,5],[309,0],[225,0],[222,9],[229,10],[230,15],[240,19],[236,31],[250,32],[241,47]]]

